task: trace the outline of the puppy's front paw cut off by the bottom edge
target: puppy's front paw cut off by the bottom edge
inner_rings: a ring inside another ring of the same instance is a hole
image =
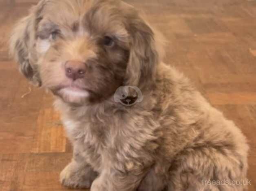
[[[104,170],[95,179],[91,191],[135,191],[145,174],[143,171],[121,172],[116,169]]]

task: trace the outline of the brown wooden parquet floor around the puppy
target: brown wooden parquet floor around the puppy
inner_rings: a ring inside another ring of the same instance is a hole
[[[58,179],[72,148],[51,95],[29,85],[7,53],[13,23],[36,2],[0,0],[0,191],[66,190]],[[143,9],[167,37],[166,62],[248,137],[249,191],[256,191],[256,1],[126,2]]]

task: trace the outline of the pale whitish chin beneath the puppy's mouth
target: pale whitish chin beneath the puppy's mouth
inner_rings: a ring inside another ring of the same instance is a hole
[[[64,87],[53,91],[53,93],[60,97],[64,102],[71,104],[85,104],[92,96],[89,91],[76,87]]]

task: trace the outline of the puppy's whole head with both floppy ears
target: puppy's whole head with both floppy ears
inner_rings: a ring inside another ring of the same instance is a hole
[[[159,48],[152,28],[119,0],[42,0],[10,41],[26,78],[75,104],[154,83]]]

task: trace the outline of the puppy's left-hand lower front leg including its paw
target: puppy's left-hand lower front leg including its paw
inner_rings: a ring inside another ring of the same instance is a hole
[[[61,172],[60,182],[69,188],[88,189],[97,175],[92,167],[82,160],[81,156],[74,154],[71,163]]]

